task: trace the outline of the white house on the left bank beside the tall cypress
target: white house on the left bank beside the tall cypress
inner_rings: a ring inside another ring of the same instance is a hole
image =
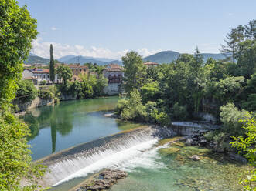
[[[22,79],[30,79],[34,85],[39,85],[41,82],[46,81],[46,84],[52,83],[49,79],[49,69],[24,69],[22,72]],[[54,83],[60,83],[62,79],[58,79],[58,75],[55,75]]]

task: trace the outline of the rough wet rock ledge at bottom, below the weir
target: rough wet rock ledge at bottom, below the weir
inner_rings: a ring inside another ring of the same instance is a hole
[[[110,189],[118,179],[123,179],[128,176],[128,173],[118,169],[105,169],[101,173],[95,175],[90,181],[86,181],[76,189],[75,191],[99,191]]]

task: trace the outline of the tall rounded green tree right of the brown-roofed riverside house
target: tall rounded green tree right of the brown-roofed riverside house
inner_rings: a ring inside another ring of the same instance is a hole
[[[131,51],[122,57],[122,61],[125,68],[125,91],[140,89],[145,82],[146,75],[146,66],[143,64],[142,56]]]

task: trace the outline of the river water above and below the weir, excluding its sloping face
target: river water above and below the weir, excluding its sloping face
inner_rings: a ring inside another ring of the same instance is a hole
[[[29,122],[32,132],[29,137],[32,158],[39,159],[70,146],[141,126],[104,116],[108,110],[114,109],[117,101],[118,97],[73,100],[27,112],[22,118]],[[127,171],[128,177],[119,180],[111,191],[241,190],[237,174],[246,170],[247,166],[207,149],[175,147],[180,150],[171,154],[161,152],[162,146],[155,143],[150,143],[147,149],[139,149],[138,155],[129,156],[124,151],[123,155],[128,158],[112,167]],[[189,159],[194,154],[202,159]],[[71,179],[51,190],[68,190],[90,174]]]

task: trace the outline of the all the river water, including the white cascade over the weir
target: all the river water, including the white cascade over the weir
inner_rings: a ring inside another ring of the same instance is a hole
[[[98,142],[102,137],[142,126],[105,117],[104,113],[114,109],[117,101],[118,97],[73,100],[30,110],[23,119],[29,122],[32,132],[29,137],[32,158],[40,159],[83,142]],[[177,152],[166,152],[170,145],[160,144],[159,138],[145,132],[103,142],[94,152],[77,153],[49,166],[51,173],[46,176],[55,185],[51,190],[66,191],[104,168],[128,172],[128,177],[119,180],[111,191],[241,190],[237,174],[247,170],[247,166],[183,143],[171,146]],[[189,159],[195,154],[200,161]]]

